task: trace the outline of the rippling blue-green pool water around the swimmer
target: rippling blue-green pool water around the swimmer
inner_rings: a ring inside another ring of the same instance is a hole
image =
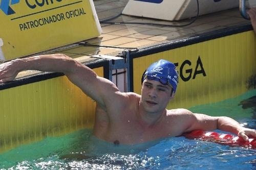
[[[256,129],[256,90],[234,99],[190,108],[225,115]],[[221,131],[217,131],[223,133]],[[48,137],[0,155],[0,169],[255,169],[256,150],[170,137],[143,144],[99,140],[92,130]]]

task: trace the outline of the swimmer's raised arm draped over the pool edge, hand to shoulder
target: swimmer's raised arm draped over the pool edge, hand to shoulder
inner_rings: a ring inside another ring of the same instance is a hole
[[[111,81],[98,77],[89,67],[63,54],[15,59],[1,64],[0,83],[12,81],[22,70],[63,72],[72,83],[103,108],[105,101],[109,100],[107,99],[109,94],[119,91]],[[112,95],[112,97],[114,96]]]

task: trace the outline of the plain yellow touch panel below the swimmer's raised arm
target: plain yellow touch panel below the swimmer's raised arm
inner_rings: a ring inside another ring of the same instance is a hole
[[[94,124],[96,103],[66,76],[1,90],[0,101],[0,152]]]

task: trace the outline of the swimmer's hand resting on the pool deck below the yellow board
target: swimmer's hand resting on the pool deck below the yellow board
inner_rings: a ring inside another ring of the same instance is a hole
[[[18,74],[19,70],[14,63],[18,60],[9,61],[0,65],[0,83],[12,81]]]

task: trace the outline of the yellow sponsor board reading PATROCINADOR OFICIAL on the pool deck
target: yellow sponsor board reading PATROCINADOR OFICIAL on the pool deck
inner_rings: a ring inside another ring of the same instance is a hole
[[[5,60],[100,35],[92,0],[0,0]]]

